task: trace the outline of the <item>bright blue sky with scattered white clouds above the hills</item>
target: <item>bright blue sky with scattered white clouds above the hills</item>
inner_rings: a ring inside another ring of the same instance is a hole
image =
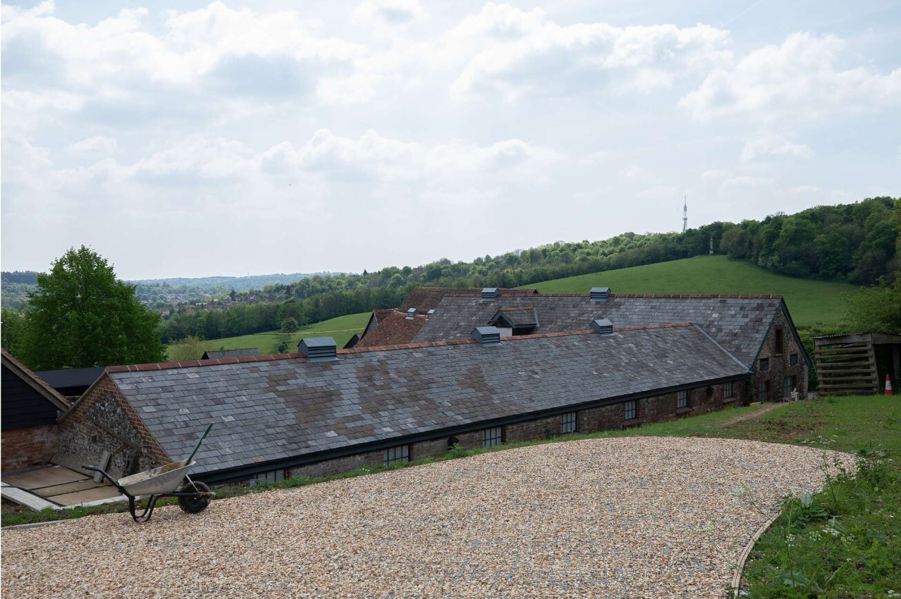
[[[896,0],[0,10],[4,270],[361,272],[901,195]]]

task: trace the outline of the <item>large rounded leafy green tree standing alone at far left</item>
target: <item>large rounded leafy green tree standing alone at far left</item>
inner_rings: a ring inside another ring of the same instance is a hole
[[[21,358],[35,370],[157,362],[166,357],[159,320],[105,258],[72,248],[38,275]]]

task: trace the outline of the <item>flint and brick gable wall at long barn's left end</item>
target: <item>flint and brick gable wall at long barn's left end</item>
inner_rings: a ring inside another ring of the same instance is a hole
[[[104,451],[112,455],[106,471],[116,478],[171,461],[109,375],[59,420],[59,450],[53,462],[78,468],[96,464]]]

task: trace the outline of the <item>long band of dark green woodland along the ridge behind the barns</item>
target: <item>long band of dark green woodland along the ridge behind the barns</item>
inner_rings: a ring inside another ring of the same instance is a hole
[[[278,330],[293,318],[303,326],[344,314],[392,308],[414,286],[525,286],[563,277],[714,254],[792,277],[873,285],[889,281],[901,263],[901,200],[876,197],[817,206],[762,221],[714,222],[684,233],[623,233],[603,241],[557,242],[500,256],[422,267],[382,268],[362,275],[309,277],[238,294],[227,309],[180,307],[165,317],[163,340],[187,335],[219,339]],[[252,303],[241,302],[250,299]]]

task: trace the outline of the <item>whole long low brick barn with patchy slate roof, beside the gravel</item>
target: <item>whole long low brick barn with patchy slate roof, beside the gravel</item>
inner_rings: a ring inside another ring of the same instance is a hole
[[[205,482],[324,476],[747,402],[748,365],[686,322],[107,368],[59,420],[61,464],[184,458]],[[496,330],[495,330],[496,331]],[[307,340],[309,341],[309,340]],[[317,346],[318,347],[318,346]],[[320,348],[321,349],[321,348]],[[86,460],[86,461],[85,461]]]

